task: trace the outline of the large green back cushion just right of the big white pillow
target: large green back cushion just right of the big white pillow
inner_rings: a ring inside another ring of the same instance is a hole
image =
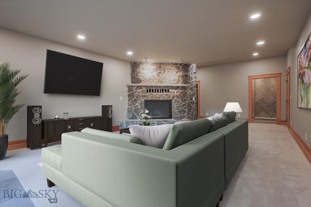
[[[171,150],[184,143],[188,143],[204,134],[207,134],[211,122],[208,119],[198,119],[191,122],[185,122],[173,125],[170,133],[164,143],[163,149]]]

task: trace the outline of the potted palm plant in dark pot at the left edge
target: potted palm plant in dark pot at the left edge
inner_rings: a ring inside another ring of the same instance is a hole
[[[28,75],[17,76],[20,70],[11,70],[9,63],[0,63],[0,159],[3,159],[8,149],[8,135],[5,129],[19,109],[24,104],[16,104],[19,94],[17,85]]]

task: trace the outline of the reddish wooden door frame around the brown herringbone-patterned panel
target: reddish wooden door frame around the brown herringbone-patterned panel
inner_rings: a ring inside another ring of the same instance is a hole
[[[276,78],[276,124],[281,124],[281,73],[248,76],[248,122],[252,123],[253,119],[253,80]]]

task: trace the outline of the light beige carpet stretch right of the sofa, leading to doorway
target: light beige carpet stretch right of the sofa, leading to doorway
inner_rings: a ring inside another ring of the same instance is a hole
[[[311,207],[311,164],[286,126],[249,124],[249,149],[220,207]]]

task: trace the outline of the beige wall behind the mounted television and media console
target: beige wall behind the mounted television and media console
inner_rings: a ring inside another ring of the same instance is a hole
[[[113,126],[126,118],[129,62],[4,29],[0,29],[0,46],[0,62],[10,62],[12,69],[30,75],[18,86],[21,94],[16,103],[25,106],[7,127],[9,141],[27,137],[27,105],[41,105],[43,119],[62,117],[63,112],[69,112],[69,117],[101,115],[102,105],[113,105]],[[47,49],[104,63],[101,96],[43,94]]]

